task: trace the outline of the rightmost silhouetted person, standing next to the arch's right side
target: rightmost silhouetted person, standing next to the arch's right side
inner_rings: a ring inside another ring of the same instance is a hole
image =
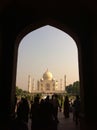
[[[79,121],[79,113],[80,113],[80,99],[78,95],[76,96],[76,99],[74,100],[73,108],[74,108],[74,117],[75,117],[75,121],[77,125]]]

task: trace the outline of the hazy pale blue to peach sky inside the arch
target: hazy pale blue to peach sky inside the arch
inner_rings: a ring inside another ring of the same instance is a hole
[[[60,81],[66,75],[66,83],[79,80],[78,52],[75,41],[63,31],[44,26],[26,35],[18,49],[16,85],[28,89],[28,75],[41,79],[48,70]]]

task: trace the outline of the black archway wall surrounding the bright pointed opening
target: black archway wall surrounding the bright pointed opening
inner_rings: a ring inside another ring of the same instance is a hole
[[[0,99],[4,101],[1,102],[1,110],[3,110],[0,113],[0,118],[3,122],[1,124],[6,124],[5,122],[9,120],[12,112],[10,106],[12,106],[14,100],[18,41],[27,32],[27,28],[24,28],[32,24],[33,26],[35,25],[33,27],[34,30],[42,25],[51,24],[60,29],[62,27],[61,30],[67,32],[76,41],[78,46],[81,98],[84,110],[82,111],[84,117],[81,119],[81,129],[97,130],[97,106],[95,106],[94,101],[94,99],[97,99],[96,2],[86,0],[80,3],[73,1],[72,4],[70,2],[63,4],[62,2],[52,1],[49,1],[48,4],[44,1],[40,3],[33,1],[17,1],[16,4],[11,1],[9,4],[8,2],[5,3],[1,4],[0,10],[0,87],[2,89]],[[56,24],[54,24],[54,19],[52,20],[52,18],[56,18]],[[25,30],[25,33],[23,30]],[[6,96],[3,92],[5,92]],[[3,127],[7,128],[6,125]]]

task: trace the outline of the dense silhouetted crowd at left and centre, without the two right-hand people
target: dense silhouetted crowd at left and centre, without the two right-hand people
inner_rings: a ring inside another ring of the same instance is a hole
[[[16,117],[12,123],[12,130],[28,130],[28,120],[31,119],[31,130],[57,130],[58,97],[47,96],[40,99],[34,98],[29,105],[27,99],[22,98],[17,104]]]

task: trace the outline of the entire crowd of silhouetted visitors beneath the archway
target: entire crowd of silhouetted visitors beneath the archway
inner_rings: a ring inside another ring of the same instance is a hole
[[[37,95],[31,102],[28,102],[26,98],[21,98],[16,104],[16,108],[15,118],[11,125],[12,130],[28,130],[29,119],[31,120],[31,130],[57,130],[58,110],[63,112],[65,119],[69,118],[70,112],[72,112],[76,125],[79,122],[79,96],[76,96],[73,102],[70,102],[66,96],[63,110],[56,94],[52,95],[52,98],[47,96],[45,99],[40,99]]]

